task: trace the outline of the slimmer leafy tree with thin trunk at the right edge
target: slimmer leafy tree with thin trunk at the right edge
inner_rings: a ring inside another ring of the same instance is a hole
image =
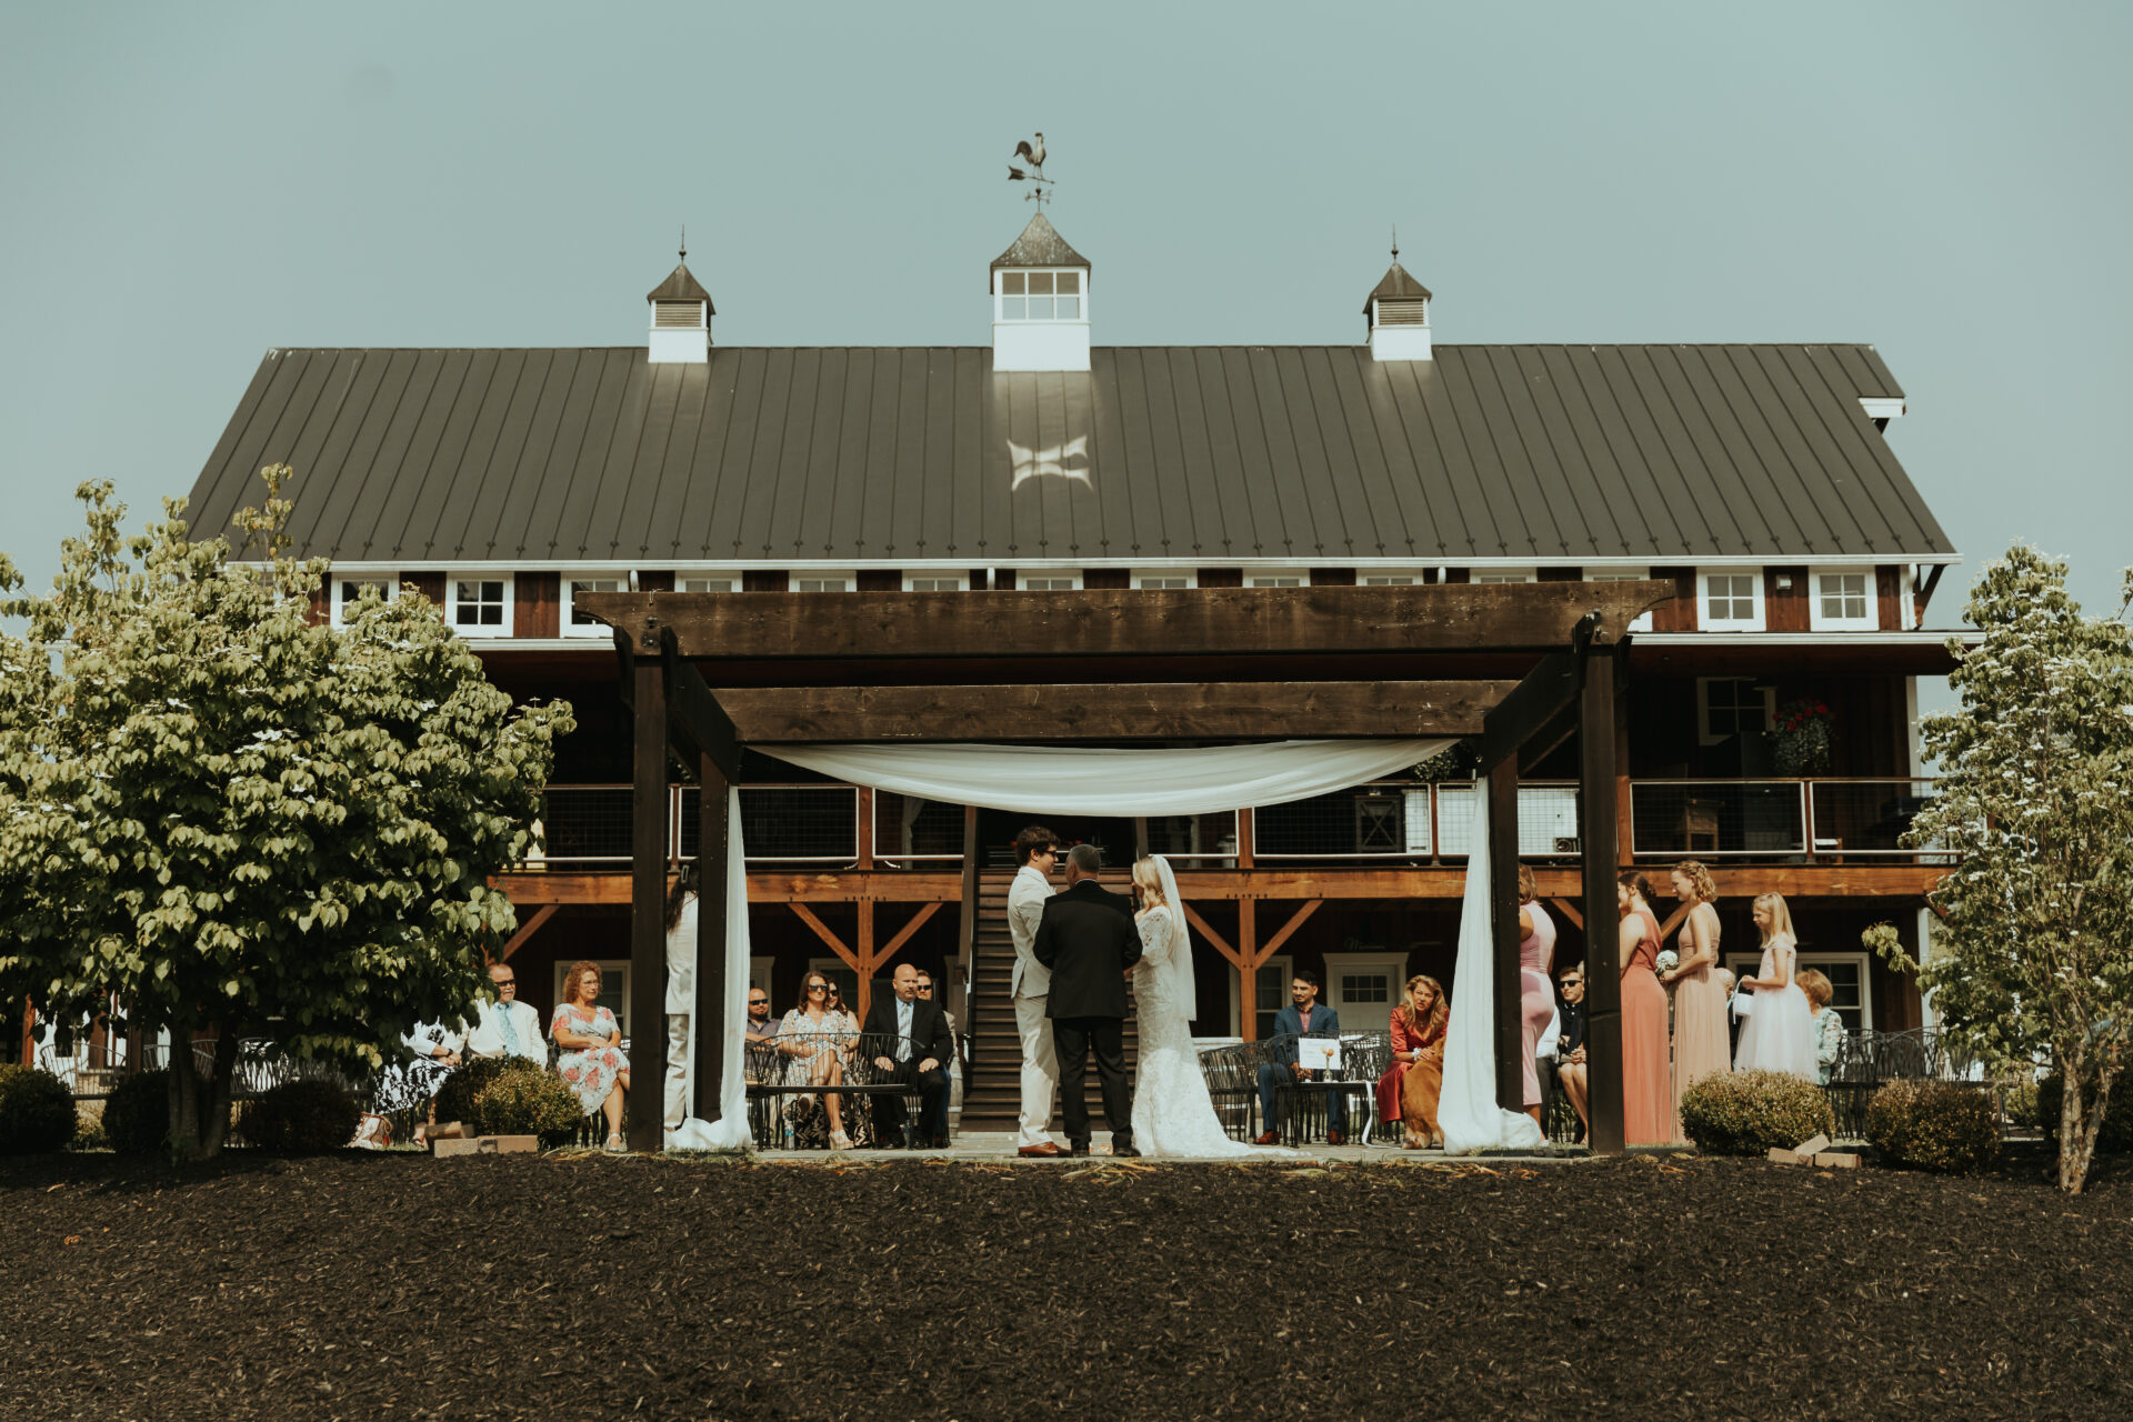
[[[1941,780],[1911,842],[1954,868],[1920,985],[1986,1062],[2065,1072],[2058,1185],[2080,1194],[2133,1038],[2133,635],[2124,605],[2082,616],[2067,565],[2020,546],[1967,618],[1984,644],[1950,644],[1962,706],[1922,723]]]

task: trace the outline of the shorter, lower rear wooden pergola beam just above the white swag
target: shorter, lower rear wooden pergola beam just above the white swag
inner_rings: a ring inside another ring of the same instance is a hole
[[[1519,682],[721,686],[738,740],[1256,740],[1480,736]]]

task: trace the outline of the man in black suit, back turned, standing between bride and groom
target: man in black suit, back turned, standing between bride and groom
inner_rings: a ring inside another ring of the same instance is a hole
[[[1071,1156],[1088,1156],[1088,1092],[1084,1072],[1096,1053],[1103,1119],[1113,1156],[1133,1149],[1133,1085],[1126,1081],[1126,970],[1141,962],[1133,902],[1096,883],[1103,866],[1094,844],[1066,851],[1066,891],[1045,902],[1037,923],[1037,962],[1052,970],[1045,1017],[1058,1055],[1060,1115]]]

